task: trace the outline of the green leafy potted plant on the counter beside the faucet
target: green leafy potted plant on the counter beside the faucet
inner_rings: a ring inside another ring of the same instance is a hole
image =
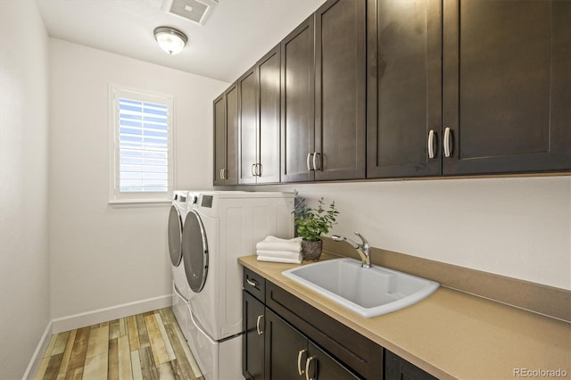
[[[321,197],[318,207],[312,209],[305,202],[305,198],[295,194],[294,219],[297,235],[302,237],[303,260],[319,260],[323,248],[321,235],[327,234],[337,224],[337,215],[339,211],[335,208],[335,201],[326,209]]]

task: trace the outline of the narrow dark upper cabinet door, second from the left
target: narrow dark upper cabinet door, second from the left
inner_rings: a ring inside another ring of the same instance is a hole
[[[238,88],[226,90],[226,170],[224,185],[238,183]]]

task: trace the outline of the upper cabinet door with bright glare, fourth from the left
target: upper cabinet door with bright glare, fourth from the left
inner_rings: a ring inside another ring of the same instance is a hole
[[[280,61],[279,46],[258,63],[260,83],[260,126],[257,182],[279,182],[279,112]]]

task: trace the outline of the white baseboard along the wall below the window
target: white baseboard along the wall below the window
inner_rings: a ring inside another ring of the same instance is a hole
[[[172,306],[172,294],[52,320],[52,334]]]

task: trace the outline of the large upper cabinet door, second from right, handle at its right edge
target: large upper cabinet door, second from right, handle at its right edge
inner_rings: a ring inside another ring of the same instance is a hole
[[[369,3],[368,178],[441,174],[442,12],[440,0]]]

